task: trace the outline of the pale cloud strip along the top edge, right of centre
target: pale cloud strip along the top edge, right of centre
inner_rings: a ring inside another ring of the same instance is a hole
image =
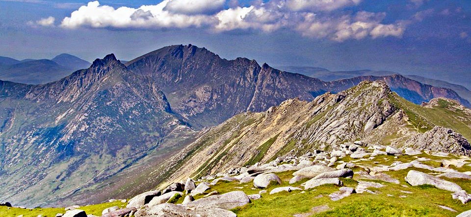
[[[292,11],[332,11],[360,2],[361,0],[286,0],[286,5]]]

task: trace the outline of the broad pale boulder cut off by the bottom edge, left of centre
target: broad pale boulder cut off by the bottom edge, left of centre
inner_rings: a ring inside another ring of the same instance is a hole
[[[217,207],[185,207],[171,203],[137,211],[135,217],[237,217],[235,213]]]

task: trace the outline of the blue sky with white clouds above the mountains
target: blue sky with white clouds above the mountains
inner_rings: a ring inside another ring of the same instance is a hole
[[[470,0],[0,0],[0,56],[131,60],[169,45],[469,87]]]

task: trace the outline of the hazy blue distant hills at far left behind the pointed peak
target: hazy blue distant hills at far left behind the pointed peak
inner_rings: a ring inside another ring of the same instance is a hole
[[[52,60],[0,57],[0,79],[24,84],[45,84],[88,68],[91,63],[70,54],[60,54]]]

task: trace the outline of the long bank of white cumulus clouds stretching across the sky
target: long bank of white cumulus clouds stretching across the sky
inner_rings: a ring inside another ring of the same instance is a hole
[[[383,23],[386,13],[333,12],[360,2],[259,0],[242,7],[237,0],[163,0],[156,5],[142,5],[139,8],[113,8],[101,5],[99,1],[91,1],[64,18],[60,26],[71,29],[194,27],[213,32],[254,30],[267,33],[287,29],[305,37],[328,38],[338,42],[367,37],[402,37],[406,24]],[[229,8],[224,8],[226,3]]]

